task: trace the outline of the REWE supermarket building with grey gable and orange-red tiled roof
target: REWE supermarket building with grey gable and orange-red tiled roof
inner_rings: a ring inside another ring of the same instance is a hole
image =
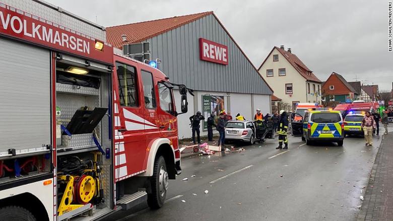
[[[148,42],[151,60],[171,82],[194,89],[188,95],[188,113],[178,116],[179,139],[191,137],[189,117],[206,117],[225,109],[253,118],[255,109],[271,113],[272,88],[213,12],[178,16],[106,28],[107,41],[126,53],[129,45]],[[177,91],[175,101],[180,100]],[[179,103],[176,103],[179,109]],[[201,135],[206,135],[206,120]]]

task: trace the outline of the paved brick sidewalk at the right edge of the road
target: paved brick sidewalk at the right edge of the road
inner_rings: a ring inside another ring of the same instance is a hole
[[[357,220],[393,220],[393,133],[378,149]]]

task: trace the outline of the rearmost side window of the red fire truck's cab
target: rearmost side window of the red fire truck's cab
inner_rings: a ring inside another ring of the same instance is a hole
[[[135,68],[116,62],[116,73],[119,81],[120,105],[137,107],[139,102]]]

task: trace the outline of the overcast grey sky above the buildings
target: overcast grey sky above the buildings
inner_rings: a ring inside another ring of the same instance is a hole
[[[257,68],[283,44],[322,81],[334,71],[392,88],[387,0],[46,1],[106,27],[214,11]]]

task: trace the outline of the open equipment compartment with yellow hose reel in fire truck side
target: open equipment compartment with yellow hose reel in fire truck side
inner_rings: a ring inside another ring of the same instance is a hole
[[[91,220],[113,208],[111,85],[110,67],[57,54],[58,220]]]

